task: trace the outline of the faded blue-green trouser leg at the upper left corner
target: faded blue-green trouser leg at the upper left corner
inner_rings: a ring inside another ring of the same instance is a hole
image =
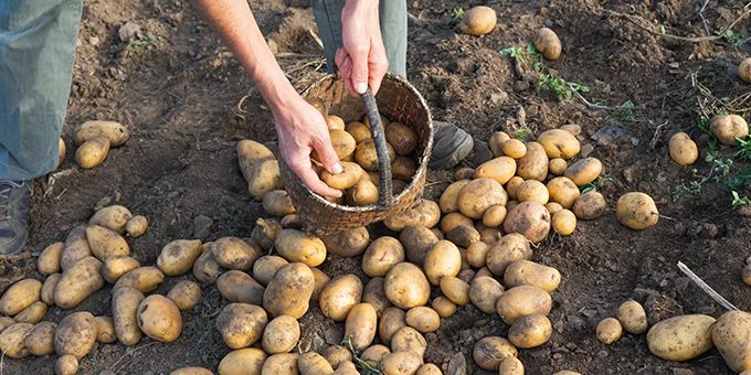
[[[0,179],[55,169],[82,0],[0,1]]]

